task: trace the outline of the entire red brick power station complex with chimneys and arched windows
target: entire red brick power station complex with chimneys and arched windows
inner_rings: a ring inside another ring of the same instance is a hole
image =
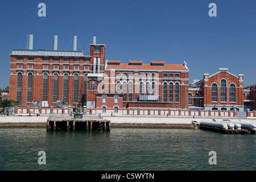
[[[13,49],[10,54],[9,98],[19,106],[84,106],[100,113],[129,108],[255,109],[255,85],[243,88],[243,75],[233,75],[226,68],[213,75],[205,73],[203,80],[189,85],[185,61],[105,61],[106,46],[97,44],[96,37],[90,55],[77,51],[76,42],[73,36],[73,50],[60,51],[55,35],[53,50],[33,49],[33,36],[28,35],[28,49]]]

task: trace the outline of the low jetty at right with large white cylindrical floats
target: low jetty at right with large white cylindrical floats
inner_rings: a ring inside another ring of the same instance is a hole
[[[255,123],[239,123],[239,122],[214,122],[200,121],[200,123],[192,122],[193,125],[199,126],[199,129],[215,131],[223,134],[255,134]]]

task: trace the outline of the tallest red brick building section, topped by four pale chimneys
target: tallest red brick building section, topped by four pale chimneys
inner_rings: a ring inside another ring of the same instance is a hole
[[[94,107],[94,92],[90,80],[101,80],[105,65],[105,45],[90,44],[90,55],[76,50],[57,50],[57,36],[53,50],[33,49],[33,36],[28,36],[28,49],[13,49],[10,61],[10,99],[20,106],[32,106],[34,101],[47,101],[57,106],[57,101],[77,106],[82,103]],[[89,83],[89,85],[88,85]],[[92,97],[93,94],[93,97]]]

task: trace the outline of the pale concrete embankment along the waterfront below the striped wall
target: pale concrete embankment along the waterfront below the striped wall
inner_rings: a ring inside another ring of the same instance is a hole
[[[71,117],[67,117],[71,118]],[[84,117],[95,118],[95,117]],[[103,117],[110,120],[111,127],[123,128],[166,128],[166,129],[192,129],[192,121],[222,121],[214,118],[163,118],[163,117]],[[11,127],[45,127],[48,116],[17,117],[9,115],[0,117],[0,128]],[[256,119],[225,119],[230,122],[256,123]]]

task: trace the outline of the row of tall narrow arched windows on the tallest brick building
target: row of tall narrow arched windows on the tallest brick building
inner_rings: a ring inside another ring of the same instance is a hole
[[[59,75],[57,73],[53,74],[53,94],[52,94],[52,102],[56,102],[58,98],[58,90],[59,84],[58,84],[58,77]],[[32,102],[32,73],[28,73],[28,80],[27,80],[27,102]],[[84,77],[84,100],[86,101],[86,95],[87,95],[87,81],[88,77]],[[43,90],[42,90],[42,100],[48,101],[48,74],[43,74]],[[96,85],[95,85],[96,87]],[[17,90],[16,90],[16,101],[21,101],[21,90],[22,90],[22,73],[17,74]],[[67,101],[68,99],[68,74],[64,74],[63,78],[63,100]],[[73,84],[73,102],[77,103],[79,102],[79,75],[74,75],[74,84]]]

